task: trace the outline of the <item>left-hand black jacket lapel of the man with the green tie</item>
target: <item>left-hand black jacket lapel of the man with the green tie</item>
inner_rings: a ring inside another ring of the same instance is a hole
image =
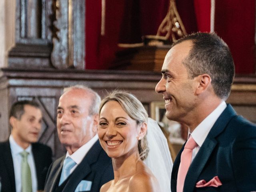
[[[9,140],[5,143],[5,150],[3,151],[3,158],[4,158],[4,161],[6,164],[6,169],[7,169],[8,175],[10,177],[12,188],[15,191],[14,167],[13,167],[12,152],[11,152]]]

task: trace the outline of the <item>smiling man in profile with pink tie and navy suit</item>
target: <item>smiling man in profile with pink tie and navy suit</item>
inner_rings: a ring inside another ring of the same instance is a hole
[[[172,192],[256,191],[256,126],[225,102],[233,78],[230,50],[214,33],[188,35],[167,53],[156,92],[167,118],[189,126]]]

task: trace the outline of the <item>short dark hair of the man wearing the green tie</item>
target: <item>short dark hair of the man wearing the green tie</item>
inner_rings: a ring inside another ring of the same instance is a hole
[[[12,104],[11,110],[10,110],[10,115],[9,115],[9,119],[10,117],[15,117],[18,120],[20,120],[21,116],[24,114],[24,106],[25,105],[29,105],[29,106],[33,106],[35,108],[40,108],[39,104],[35,101],[29,101],[29,100],[22,100],[22,101],[17,101],[14,104]]]

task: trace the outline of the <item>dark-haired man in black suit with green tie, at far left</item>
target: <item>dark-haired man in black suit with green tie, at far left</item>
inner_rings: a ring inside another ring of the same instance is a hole
[[[28,100],[14,103],[9,121],[12,126],[10,138],[0,143],[1,192],[42,191],[52,163],[52,150],[37,143],[42,126],[39,105]],[[29,176],[22,170],[22,152],[27,154],[25,162]]]

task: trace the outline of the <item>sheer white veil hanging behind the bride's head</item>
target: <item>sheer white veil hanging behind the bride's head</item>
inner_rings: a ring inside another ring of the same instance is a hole
[[[144,162],[157,178],[161,192],[170,192],[173,164],[170,150],[161,128],[151,118],[148,118],[147,139],[149,153]]]

